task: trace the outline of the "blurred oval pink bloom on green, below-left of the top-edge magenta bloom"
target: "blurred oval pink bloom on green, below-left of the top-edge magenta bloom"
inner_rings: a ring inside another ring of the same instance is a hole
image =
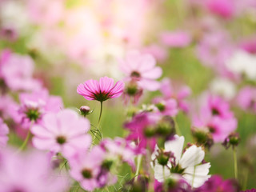
[[[190,34],[186,31],[166,31],[161,34],[162,44],[169,47],[182,48],[189,46],[191,42]]]

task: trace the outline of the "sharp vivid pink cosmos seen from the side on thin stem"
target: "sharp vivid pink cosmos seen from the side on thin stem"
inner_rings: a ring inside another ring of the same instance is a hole
[[[87,100],[104,102],[110,98],[118,98],[124,89],[122,81],[114,85],[113,78],[100,78],[99,81],[90,79],[78,85],[77,92]]]

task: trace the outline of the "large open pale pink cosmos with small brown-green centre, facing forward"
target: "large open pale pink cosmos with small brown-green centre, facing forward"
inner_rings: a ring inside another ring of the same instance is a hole
[[[39,150],[61,152],[70,157],[77,150],[86,152],[90,147],[88,130],[90,122],[86,118],[79,117],[73,110],[62,110],[58,114],[46,114],[40,125],[32,126],[32,142]]]

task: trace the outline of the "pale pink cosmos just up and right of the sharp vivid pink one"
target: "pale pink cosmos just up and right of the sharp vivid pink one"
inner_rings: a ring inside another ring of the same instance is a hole
[[[150,54],[140,54],[138,51],[130,51],[120,63],[121,70],[126,78],[138,82],[143,89],[158,90],[156,81],[162,75],[162,69],[156,65],[156,61]]]

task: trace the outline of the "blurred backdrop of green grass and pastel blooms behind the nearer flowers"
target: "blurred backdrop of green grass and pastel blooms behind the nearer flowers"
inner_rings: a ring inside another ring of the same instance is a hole
[[[177,118],[186,142],[193,142],[190,117],[202,94],[219,94],[230,102],[241,136],[238,170],[248,170],[247,188],[255,187],[256,110],[237,100],[243,88],[256,86],[255,0],[0,0],[0,40],[1,52],[32,58],[33,78],[61,96],[65,107],[90,106],[92,123],[99,103],[78,95],[78,84],[105,75],[122,79],[120,60],[130,50],[152,54],[162,78],[192,90],[192,112]],[[138,106],[159,94],[145,92]],[[125,136],[122,98],[104,104],[104,136]],[[16,140],[13,135],[9,142]],[[234,177],[231,150],[216,144],[206,160],[210,174]]]

